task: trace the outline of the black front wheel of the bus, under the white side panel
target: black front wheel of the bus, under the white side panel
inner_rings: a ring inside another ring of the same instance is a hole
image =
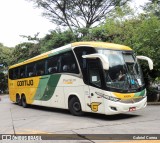
[[[83,114],[81,109],[81,103],[77,97],[72,97],[69,100],[69,111],[72,115],[80,116]]]

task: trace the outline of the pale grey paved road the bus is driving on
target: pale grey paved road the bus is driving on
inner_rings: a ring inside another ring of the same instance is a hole
[[[159,134],[160,106],[106,116],[40,106],[23,108],[0,96],[0,134]]]

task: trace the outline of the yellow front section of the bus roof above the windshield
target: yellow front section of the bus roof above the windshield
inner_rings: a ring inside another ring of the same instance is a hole
[[[113,49],[113,50],[125,50],[125,51],[131,51],[132,49],[128,46],[114,44],[114,43],[107,43],[107,42],[75,42],[71,44],[72,47],[77,46],[92,46],[95,48],[107,48],[107,49]]]

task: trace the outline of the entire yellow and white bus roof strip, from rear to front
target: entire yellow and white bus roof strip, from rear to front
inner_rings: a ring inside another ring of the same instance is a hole
[[[95,42],[95,41],[88,41],[88,42],[74,42],[71,44],[68,44],[66,46],[62,46],[60,48],[57,49],[53,49],[51,51],[45,52],[43,54],[40,54],[36,57],[30,58],[24,62],[15,64],[10,66],[9,68],[14,68],[17,66],[21,66],[30,62],[34,62],[37,60],[41,60],[44,58],[47,58],[50,54],[54,54],[54,53],[59,53],[59,51],[65,51],[66,49],[71,49],[77,46],[91,46],[94,48],[106,48],[106,49],[113,49],[113,50],[124,50],[124,51],[131,51],[132,49],[128,46],[124,46],[124,45],[119,45],[119,44],[114,44],[114,43],[107,43],[107,42]]]

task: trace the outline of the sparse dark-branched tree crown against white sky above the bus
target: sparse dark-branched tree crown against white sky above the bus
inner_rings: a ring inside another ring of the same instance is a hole
[[[43,9],[43,15],[51,22],[73,28],[90,28],[104,21],[106,15],[116,6],[130,0],[28,0]]]

